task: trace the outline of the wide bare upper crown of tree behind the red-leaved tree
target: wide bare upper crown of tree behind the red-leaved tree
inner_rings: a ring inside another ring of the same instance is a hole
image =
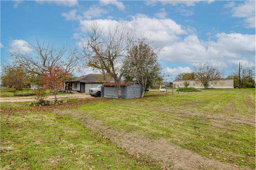
[[[31,52],[13,52],[11,58],[13,63],[22,65],[25,70],[37,75],[42,75],[46,70],[55,66],[71,74],[81,62],[76,48],[69,50],[65,46],[55,48],[53,44],[41,43],[38,40],[26,46],[31,49]]]

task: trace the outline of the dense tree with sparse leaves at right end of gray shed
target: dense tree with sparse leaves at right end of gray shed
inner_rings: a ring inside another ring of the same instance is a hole
[[[141,38],[133,44],[124,63],[126,74],[133,77],[142,87],[141,98],[143,98],[147,86],[154,84],[159,77],[162,77],[158,52],[150,46],[147,39]]]

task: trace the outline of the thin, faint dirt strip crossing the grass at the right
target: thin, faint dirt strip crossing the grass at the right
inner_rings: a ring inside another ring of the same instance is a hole
[[[163,107],[156,107],[156,106],[143,106],[144,108],[152,108],[155,110],[161,110],[161,111],[167,111],[167,112],[174,112],[184,115],[191,115],[191,116],[199,116],[204,117],[206,119],[213,119],[218,121],[228,121],[233,123],[240,123],[240,124],[249,124],[252,126],[255,126],[255,119],[253,118],[245,118],[245,117],[232,117],[232,116],[224,116],[224,115],[206,115],[206,114],[200,114],[195,112],[181,112],[177,110],[172,110],[169,108],[163,108]]]

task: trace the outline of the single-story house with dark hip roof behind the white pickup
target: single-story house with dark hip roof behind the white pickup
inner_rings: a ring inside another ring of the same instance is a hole
[[[64,90],[89,93],[90,88],[104,84],[102,74],[86,74],[76,77],[74,80],[64,81]],[[108,79],[109,82],[114,81],[113,78]]]

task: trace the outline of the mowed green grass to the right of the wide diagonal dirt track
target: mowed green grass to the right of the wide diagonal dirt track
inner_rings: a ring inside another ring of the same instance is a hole
[[[148,96],[146,99],[95,102],[86,104],[79,110],[92,120],[100,120],[103,126],[124,133],[135,133],[149,140],[165,138],[170,143],[210,159],[254,169],[254,126],[179,113],[179,111],[198,111],[206,115],[221,115],[223,112],[222,115],[227,116],[254,117],[255,111],[253,113],[250,109],[255,108],[255,97],[251,97],[250,103],[245,100],[248,94],[253,93],[255,89],[243,89],[242,91],[210,89],[202,90],[202,92],[187,92],[186,95],[180,96],[176,93],[175,96]],[[236,100],[241,101],[240,105],[233,105],[235,110],[238,110],[234,113],[228,109],[229,103]],[[160,111],[145,108],[145,106],[174,108],[177,112]]]

